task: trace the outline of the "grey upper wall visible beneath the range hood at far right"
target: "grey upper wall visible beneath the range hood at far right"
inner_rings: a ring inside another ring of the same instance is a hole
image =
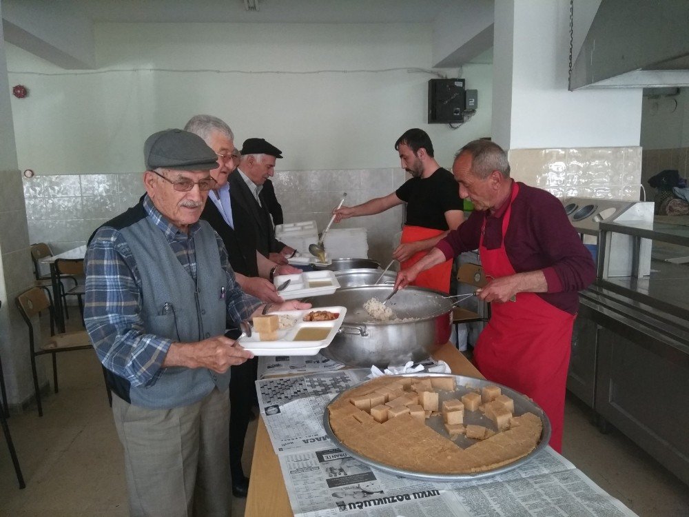
[[[641,146],[644,149],[689,147],[689,88],[681,88],[679,95],[672,97],[644,97]]]

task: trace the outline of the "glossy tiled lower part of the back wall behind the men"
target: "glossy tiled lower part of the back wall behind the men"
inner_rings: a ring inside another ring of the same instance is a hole
[[[296,170],[276,172],[273,182],[285,222],[315,220],[322,231],[343,192],[345,204],[356,205],[390,194],[405,176],[399,168]],[[49,243],[54,253],[82,245],[99,225],[138,202],[144,192],[141,178],[142,174],[54,174],[24,179],[30,242]],[[365,227],[369,257],[387,263],[402,227],[402,207],[340,224]]]

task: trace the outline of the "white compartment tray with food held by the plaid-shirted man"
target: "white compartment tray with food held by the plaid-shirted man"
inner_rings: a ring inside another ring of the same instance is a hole
[[[337,319],[331,321],[304,321],[304,316],[312,311],[329,311],[340,314]],[[296,319],[294,327],[278,330],[278,338],[275,341],[260,341],[258,332],[251,336],[242,336],[239,344],[253,352],[255,356],[315,356],[320,349],[327,347],[335,334],[340,330],[342,321],[345,320],[347,307],[315,307],[300,311],[270,312],[278,316],[287,315]],[[303,328],[327,328],[328,335],[319,341],[294,341],[295,336]]]

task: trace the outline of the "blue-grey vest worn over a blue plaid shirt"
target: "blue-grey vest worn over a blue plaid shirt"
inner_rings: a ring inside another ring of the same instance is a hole
[[[207,222],[199,223],[193,236],[196,282],[150,218],[121,230],[141,278],[141,319],[147,334],[187,343],[225,333],[225,272],[214,231]],[[137,406],[169,409],[200,401],[214,386],[227,389],[229,369],[217,374],[206,368],[169,367],[152,385],[130,387],[130,397]]]

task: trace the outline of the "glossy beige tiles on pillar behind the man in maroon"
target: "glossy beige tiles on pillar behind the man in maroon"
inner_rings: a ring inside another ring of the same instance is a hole
[[[641,148],[513,149],[512,177],[564,198],[639,201]]]

